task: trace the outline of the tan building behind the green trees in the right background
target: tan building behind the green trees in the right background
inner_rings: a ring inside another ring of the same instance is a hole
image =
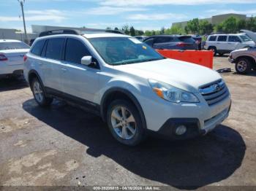
[[[217,25],[219,23],[222,23],[224,20],[226,20],[229,17],[237,17],[237,18],[240,18],[243,20],[246,20],[249,18],[249,17],[246,17],[246,15],[229,13],[229,14],[225,14],[225,15],[215,15],[210,18],[204,18],[204,19],[200,19],[200,20],[208,20],[209,23],[211,23],[213,25]],[[187,22],[189,22],[189,20],[173,23],[173,26],[181,26],[182,28],[184,28],[185,26],[187,26]]]

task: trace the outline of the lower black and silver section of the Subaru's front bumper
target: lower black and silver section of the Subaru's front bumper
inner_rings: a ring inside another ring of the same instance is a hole
[[[219,114],[211,117],[211,119],[205,120],[203,127],[200,125],[200,120],[197,118],[170,118],[157,132],[154,133],[174,140],[192,139],[196,136],[206,135],[207,133],[211,132],[211,130],[214,130],[217,125],[221,124],[228,117],[230,108],[231,102],[227,109],[224,109]],[[184,125],[187,128],[187,131],[182,135],[177,135],[176,129],[181,125]]]

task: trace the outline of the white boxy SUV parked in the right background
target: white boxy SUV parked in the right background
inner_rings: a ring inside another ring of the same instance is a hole
[[[213,50],[214,55],[224,55],[233,50],[238,50],[244,47],[255,46],[246,34],[211,34],[208,36],[204,48]]]

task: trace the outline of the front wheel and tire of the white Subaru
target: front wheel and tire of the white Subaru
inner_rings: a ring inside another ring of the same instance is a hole
[[[121,144],[135,146],[145,138],[138,109],[129,101],[113,101],[108,107],[107,122],[113,137]]]

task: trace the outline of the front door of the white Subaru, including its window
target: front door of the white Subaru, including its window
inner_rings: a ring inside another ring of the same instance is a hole
[[[61,66],[63,92],[72,98],[94,102],[99,89],[99,67],[81,64],[81,58],[91,55],[80,39],[68,38]]]

